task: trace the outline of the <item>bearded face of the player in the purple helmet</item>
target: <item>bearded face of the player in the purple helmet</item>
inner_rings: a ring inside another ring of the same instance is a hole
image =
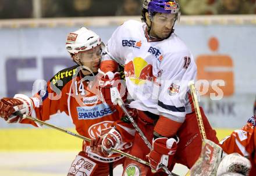
[[[161,39],[168,38],[175,24],[175,15],[169,13],[157,13],[152,17],[150,35]]]

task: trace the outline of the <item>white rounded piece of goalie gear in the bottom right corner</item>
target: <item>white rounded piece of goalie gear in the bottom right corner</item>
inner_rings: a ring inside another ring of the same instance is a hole
[[[219,164],[216,175],[221,176],[228,173],[249,175],[250,169],[251,163],[246,157],[239,155],[239,153],[232,153],[223,158],[223,160]]]

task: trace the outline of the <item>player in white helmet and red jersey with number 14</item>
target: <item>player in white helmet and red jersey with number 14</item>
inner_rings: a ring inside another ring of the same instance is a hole
[[[80,135],[94,139],[108,132],[108,137],[116,139],[119,144],[115,148],[127,151],[131,143],[122,137],[133,138],[134,131],[129,131],[126,124],[122,124],[123,121],[118,121],[123,112],[118,107],[113,108],[109,101],[109,88],[99,89],[98,84],[94,84],[102,57],[101,39],[93,31],[81,27],[67,35],[66,49],[76,65],[59,71],[48,81],[47,88],[41,89],[32,98],[23,94],[2,98],[0,116],[8,123],[27,123],[38,127],[40,124],[34,121],[13,115],[13,107],[19,107],[22,113],[42,121],[49,120],[52,114],[65,112]],[[115,74],[115,78],[119,76]],[[112,128],[114,122],[115,128]],[[125,130],[118,130],[122,127],[126,127]],[[108,137],[105,139],[108,140]],[[67,175],[108,175],[108,163],[113,163],[114,167],[122,163],[122,156],[97,155],[91,151],[90,145],[83,142],[83,149],[74,159]]]

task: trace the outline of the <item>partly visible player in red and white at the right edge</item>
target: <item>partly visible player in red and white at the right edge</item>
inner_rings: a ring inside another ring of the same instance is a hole
[[[242,175],[253,176],[256,173],[256,100],[254,102],[253,117],[240,130],[234,130],[231,135],[224,138],[219,145],[227,155],[218,167],[218,174],[233,170]],[[233,155],[238,153],[238,155]],[[232,155],[232,156],[231,156]],[[226,159],[230,156],[230,159]],[[246,157],[250,159],[248,163]],[[250,169],[249,169],[250,168]]]

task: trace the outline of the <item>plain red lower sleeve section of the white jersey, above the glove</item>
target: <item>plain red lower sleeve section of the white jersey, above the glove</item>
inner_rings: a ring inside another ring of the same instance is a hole
[[[154,131],[163,137],[170,138],[176,134],[181,125],[182,123],[160,116],[157,124],[155,125]]]

